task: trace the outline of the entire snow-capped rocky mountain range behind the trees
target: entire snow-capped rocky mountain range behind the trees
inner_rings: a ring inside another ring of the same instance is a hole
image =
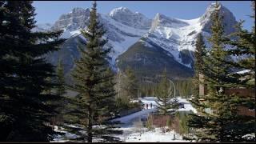
[[[230,34],[237,23],[234,15],[225,6],[221,5],[219,9],[224,18],[224,30]],[[210,36],[210,15],[213,11],[214,4],[211,4],[199,18],[185,20],[156,14],[150,19],[119,7],[108,14],[98,14],[98,19],[107,31],[105,36],[109,42],[106,46],[113,47],[110,57],[114,68],[131,66],[136,70],[147,70],[158,67],[162,70],[169,66],[178,70],[172,76],[179,78],[178,75],[189,77],[193,74],[195,40],[199,33]],[[86,42],[80,30],[86,29],[89,16],[90,9],[74,8],[70,13],[62,14],[50,27],[50,30],[64,30],[62,38],[68,38],[61,50],[48,56],[54,65],[59,58],[63,59],[67,74],[74,68],[74,59],[79,58],[78,46]]]

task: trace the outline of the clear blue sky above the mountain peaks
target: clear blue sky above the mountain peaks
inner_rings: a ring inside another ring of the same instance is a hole
[[[132,11],[154,18],[157,13],[171,18],[192,19],[200,17],[207,6],[215,1],[98,1],[98,12],[107,14],[114,8],[124,6]],[[254,22],[248,15],[252,14],[250,1],[219,1],[226,6],[237,20],[246,20],[244,26],[250,30]],[[54,23],[62,14],[74,7],[90,8],[91,1],[34,1],[38,23]]]

